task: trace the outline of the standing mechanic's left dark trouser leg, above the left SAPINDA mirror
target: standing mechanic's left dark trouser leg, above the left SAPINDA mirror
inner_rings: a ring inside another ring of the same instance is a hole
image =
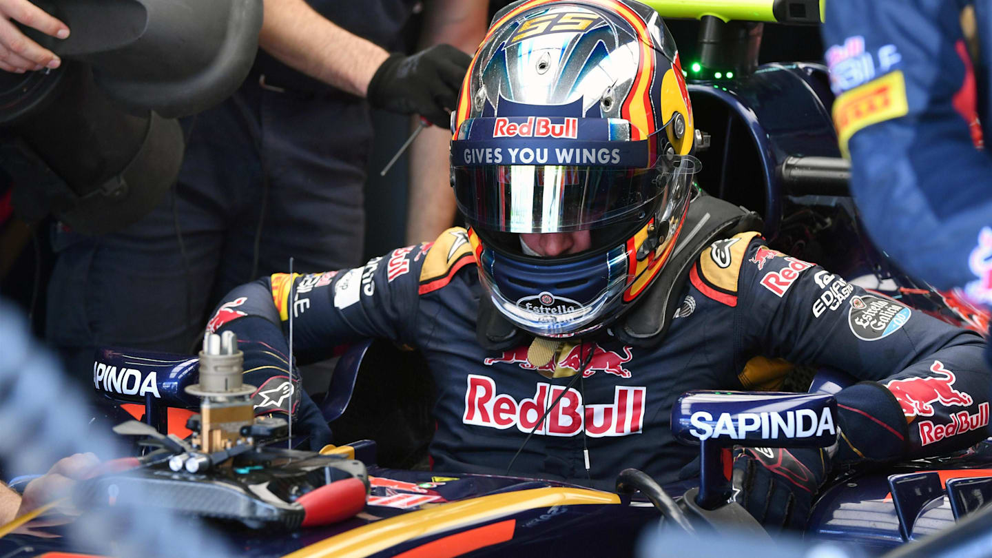
[[[238,142],[244,130],[224,105],[200,114],[179,184],[150,214],[99,237],[56,232],[47,334],[73,375],[90,373],[100,346],[192,349],[232,205],[225,185],[249,189],[251,182],[243,155],[250,143]]]

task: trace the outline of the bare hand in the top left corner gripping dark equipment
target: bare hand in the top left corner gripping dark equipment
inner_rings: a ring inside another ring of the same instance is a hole
[[[0,0],[0,69],[23,73],[59,68],[59,57],[21,33],[11,20],[52,37],[68,37],[68,26],[29,0]]]

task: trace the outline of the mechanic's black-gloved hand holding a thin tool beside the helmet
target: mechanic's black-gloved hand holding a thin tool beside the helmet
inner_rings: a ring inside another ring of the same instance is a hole
[[[448,111],[457,106],[458,88],[472,57],[450,45],[435,45],[413,56],[393,54],[369,81],[372,106],[402,114],[420,114],[435,126],[449,126]]]

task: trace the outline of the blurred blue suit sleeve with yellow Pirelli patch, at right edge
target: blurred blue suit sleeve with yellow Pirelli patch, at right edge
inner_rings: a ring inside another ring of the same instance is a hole
[[[851,191],[912,274],[992,302],[992,12],[970,0],[828,0],[823,43]]]

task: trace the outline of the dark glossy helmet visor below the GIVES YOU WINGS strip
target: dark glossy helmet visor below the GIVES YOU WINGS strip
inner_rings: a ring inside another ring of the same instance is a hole
[[[648,169],[453,167],[454,194],[473,226],[518,233],[582,230],[636,217],[694,173],[690,157],[662,161],[664,165]]]

